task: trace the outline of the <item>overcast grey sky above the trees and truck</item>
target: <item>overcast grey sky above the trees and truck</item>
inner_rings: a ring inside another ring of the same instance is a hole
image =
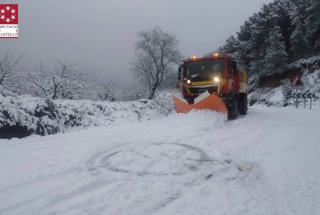
[[[15,0],[19,38],[0,39],[0,54],[34,69],[41,60],[80,62],[80,68],[128,80],[135,33],[157,25],[174,33],[185,57],[216,50],[270,0]],[[2,3],[1,3],[2,4]]]

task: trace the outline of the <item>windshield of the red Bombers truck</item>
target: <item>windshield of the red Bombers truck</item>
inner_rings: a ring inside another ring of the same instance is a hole
[[[207,81],[224,77],[225,59],[203,60],[184,64],[184,76],[192,81]]]

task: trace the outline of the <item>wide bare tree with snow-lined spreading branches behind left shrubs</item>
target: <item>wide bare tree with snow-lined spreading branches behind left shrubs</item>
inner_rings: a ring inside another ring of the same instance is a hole
[[[90,74],[95,74],[98,71],[84,73],[84,70],[77,69],[77,64],[67,65],[67,62],[62,63],[59,60],[59,67],[55,66],[55,72],[44,73],[42,65],[40,72],[29,72],[28,76],[36,93],[43,92],[45,96],[50,96],[52,99],[76,99],[83,98],[92,94],[92,86],[94,78],[89,77]]]

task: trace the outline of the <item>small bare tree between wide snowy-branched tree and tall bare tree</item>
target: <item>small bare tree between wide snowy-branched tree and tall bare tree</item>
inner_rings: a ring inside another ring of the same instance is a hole
[[[95,76],[96,77],[96,76]],[[120,87],[118,86],[119,76],[117,78],[108,77],[97,78],[95,86],[95,92],[98,98],[102,101],[115,101],[119,97]]]

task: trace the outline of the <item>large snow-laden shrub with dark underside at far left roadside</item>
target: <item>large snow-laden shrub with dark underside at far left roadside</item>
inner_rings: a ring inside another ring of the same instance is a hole
[[[15,131],[41,135],[62,132],[60,118],[60,111],[51,98],[19,96],[0,89],[0,137],[14,136],[10,132]]]

